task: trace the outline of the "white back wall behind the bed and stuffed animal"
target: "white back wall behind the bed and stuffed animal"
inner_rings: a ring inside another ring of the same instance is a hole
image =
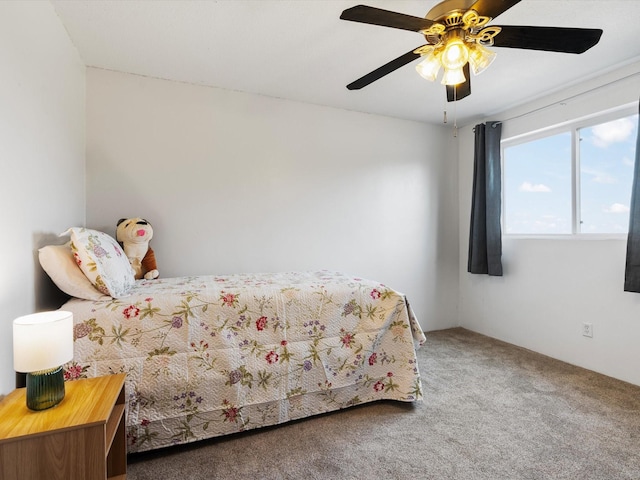
[[[89,68],[87,224],[154,226],[162,276],[332,269],[455,325],[448,130]]]

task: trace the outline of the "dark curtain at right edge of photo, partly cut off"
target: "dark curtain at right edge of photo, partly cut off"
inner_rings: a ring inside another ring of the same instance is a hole
[[[636,138],[636,164],[633,171],[633,184],[631,186],[624,291],[640,293],[640,129],[638,129]]]

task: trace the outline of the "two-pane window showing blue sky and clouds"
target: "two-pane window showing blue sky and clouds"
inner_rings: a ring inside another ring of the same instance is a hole
[[[504,232],[626,234],[638,134],[633,110],[505,140]]]

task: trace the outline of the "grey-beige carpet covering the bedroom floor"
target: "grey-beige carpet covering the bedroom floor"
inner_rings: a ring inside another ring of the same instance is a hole
[[[640,479],[640,387],[460,328],[418,355],[422,403],[130,456],[127,478]]]

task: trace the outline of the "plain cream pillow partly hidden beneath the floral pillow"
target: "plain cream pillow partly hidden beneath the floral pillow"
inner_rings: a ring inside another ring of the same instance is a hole
[[[42,269],[67,295],[85,300],[106,300],[78,267],[69,244],[49,245],[38,250]]]

